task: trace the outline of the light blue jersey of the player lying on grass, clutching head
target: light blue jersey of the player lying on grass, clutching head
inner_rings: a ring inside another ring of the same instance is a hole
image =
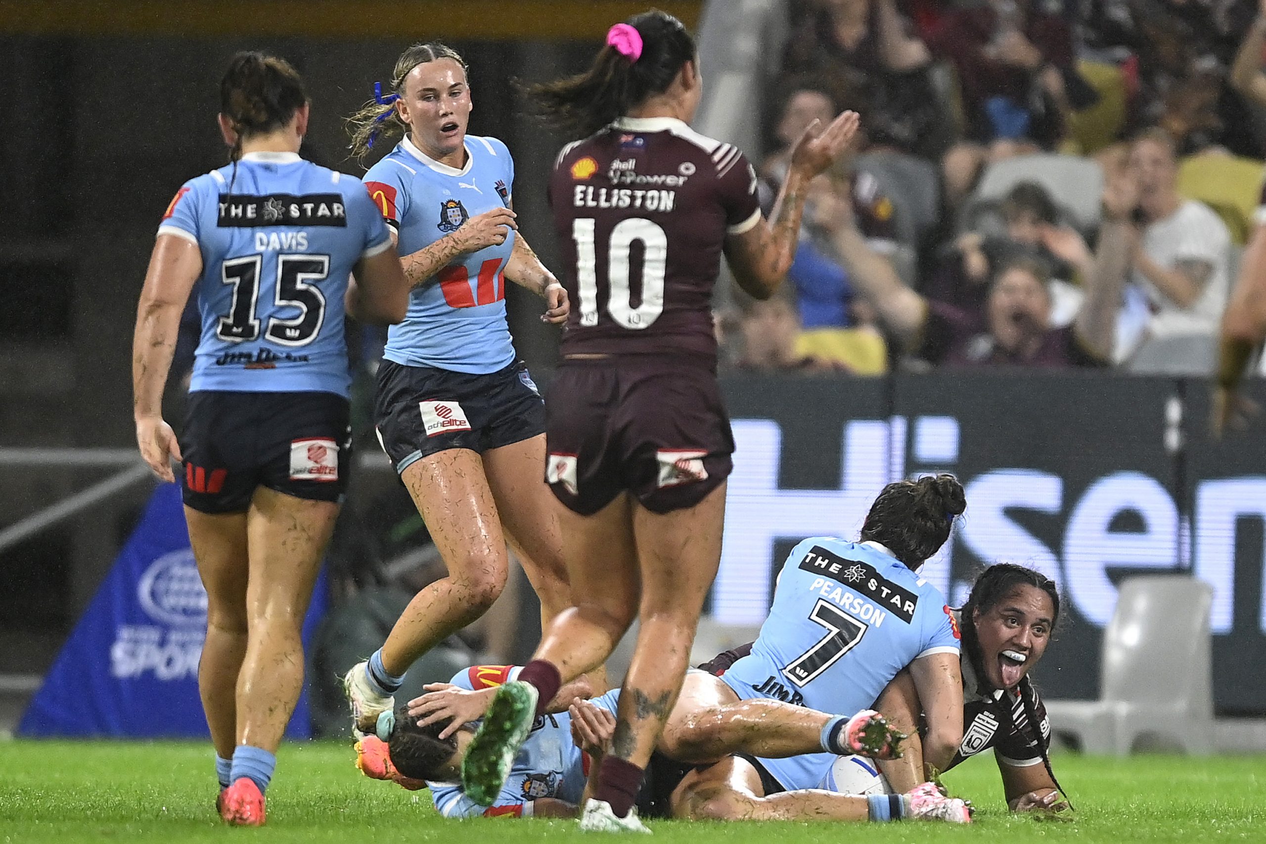
[[[458,672],[448,682],[475,690],[499,686],[518,676],[518,667],[475,666]],[[620,690],[613,688],[590,702],[614,712],[619,698]],[[585,755],[571,739],[571,715],[560,712],[541,716],[532,725],[532,733],[519,748],[510,776],[491,806],[480,806],[467,797],[461,783],[428,782],[427,786],[436,810],[444,817],[527,816],[532,814],[532,801],[538,797],[580,804],[586,774]]]

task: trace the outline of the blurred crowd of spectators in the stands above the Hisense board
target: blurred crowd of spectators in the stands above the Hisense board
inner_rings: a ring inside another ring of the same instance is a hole
[[[739,372],[1209,375],[1257,206],[1253,0],[793,0],[760,164],[862,115],[789,285],[718,314]]]

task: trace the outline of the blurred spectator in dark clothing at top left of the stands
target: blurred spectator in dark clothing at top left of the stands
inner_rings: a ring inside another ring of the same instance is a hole
[[[838,80],[862,115],[862,146],[936,159],[953,142],[932,54],[896,0],[810,0],[793,27],[784,70]]]

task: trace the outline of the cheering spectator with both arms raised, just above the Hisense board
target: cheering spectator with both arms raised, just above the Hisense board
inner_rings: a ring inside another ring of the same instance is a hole
[[[1110,223],[1128,228],[1137,187],[1114,181],[1104,191]],[[1086,282],[1085,300],[1072,325],[1051,325],[1046,267],[1031,258],[999,266],[985,301],[985,324],[962,309],[928,301],[901,283],[891,264],[866,247],[852,220],[841,214],[834,243],[853,283],[879,311],[880,320],[906,349],[932,363],[1037,367],[1104,366],[1112,356],[1115,310],[1120,301],[1128,243],[1109,237]]]

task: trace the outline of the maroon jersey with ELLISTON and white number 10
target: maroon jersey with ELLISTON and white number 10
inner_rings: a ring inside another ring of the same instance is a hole
[[[717,357],[728,234],[761,220],[756,171],[671,118],[622,118],[563,147],[549,178],[571,316],[563,354]]]

